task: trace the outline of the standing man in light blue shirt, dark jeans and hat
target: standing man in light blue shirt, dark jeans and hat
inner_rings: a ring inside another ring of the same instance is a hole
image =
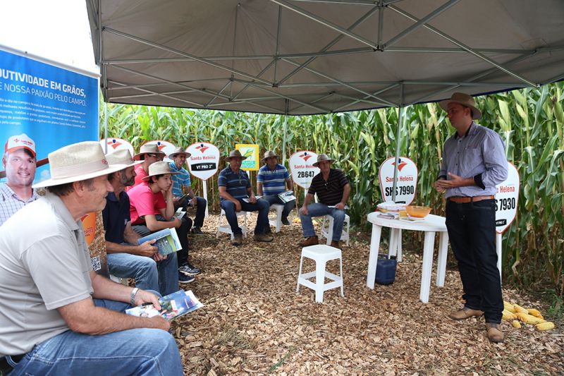
[[[436,190],[446,193],[446,227],[458,270],[465,305],[449,315],[453,320],[485,315],[488,339],[503,341],[503,298],[497,268],[496,184],[507,178],[501,137],[472,119],[482,114],[474,98],[455,92],[440,102],[456,133],[445,142]]]

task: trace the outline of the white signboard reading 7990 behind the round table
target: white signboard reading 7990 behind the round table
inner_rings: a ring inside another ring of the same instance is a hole
[[[384,201],[391,201],[393,194],[393,171],[396,158],[386,159],[380,166],[380,190]],[[410,205],[417,192],[417,165],[407,157],[398,160],[398,182],[396,183],[396,202]]]

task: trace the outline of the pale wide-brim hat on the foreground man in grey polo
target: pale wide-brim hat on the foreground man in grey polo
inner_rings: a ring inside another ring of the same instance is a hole
[[[104,150],[96,141],[78,142],[49,153],[51,178],[32,188],[59,186],[87,180],[125,169],[124,164],[109,164]]]

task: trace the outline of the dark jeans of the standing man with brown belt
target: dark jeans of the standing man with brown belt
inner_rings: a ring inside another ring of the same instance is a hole
[[[446,228],[464,288],[465,306],[483,310],[486,322],[501,322],[503,298],[496,253],[496,202],[459,204],[447,199]]]

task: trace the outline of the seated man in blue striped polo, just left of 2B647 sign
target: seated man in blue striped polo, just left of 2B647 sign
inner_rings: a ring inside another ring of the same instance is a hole
[[[286,167],[278,164],[278,155],[274,154],[272,150],[264,153],[262,162],[264,162],[264,166],[259,169],[257,176],[257,190],[259,191],[259,195],[262,196],[262,200],[268,201],[269,205],[284,205],[284,209],[282,210],[282,223],[288,226],[290,224],[288,214],[290,214],[290,210],[295,207],[295,200],[283,202],[282,199],[278,197],[278,193],[285,192],[286,186],[288,186],[288,190],[294,190],[290,173]]]

